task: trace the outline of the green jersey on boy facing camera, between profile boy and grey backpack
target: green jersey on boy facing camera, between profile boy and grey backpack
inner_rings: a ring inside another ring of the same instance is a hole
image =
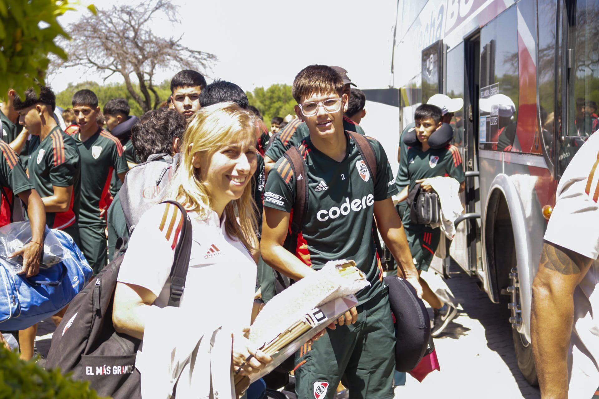
[[[81,154],[81,206],[80,226],[103,226],[102,215],[107,211],[108,196],[113,172],[129,170],[125,151],[119,139],[99,128],[89,139],[81,142],[77,130],[72,138]]]

